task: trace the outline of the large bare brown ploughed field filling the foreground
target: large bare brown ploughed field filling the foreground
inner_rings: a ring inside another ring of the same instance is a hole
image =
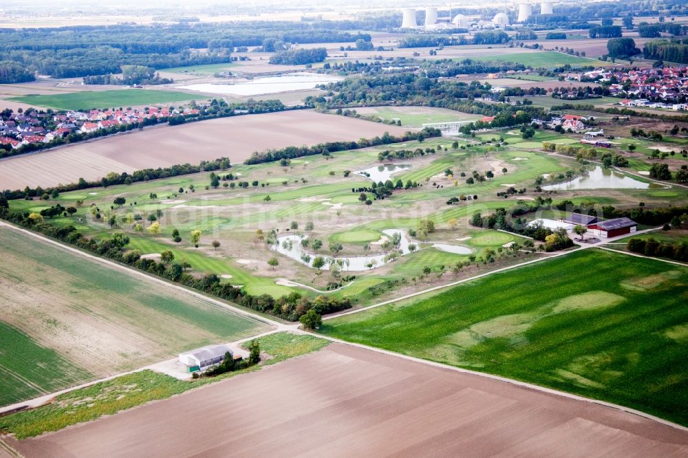
[[[332,344],[34,439],[25,457],[678,457],[688,433],[476,375]]]

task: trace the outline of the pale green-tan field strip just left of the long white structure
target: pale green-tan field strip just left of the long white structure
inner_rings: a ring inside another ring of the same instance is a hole
[[[434,107],[363,107],[356,108],[356,113],[378,116],[385,121],[398,119],[402,126],[416,129],[431,122],[475,121],[482,118],[480,115]]]

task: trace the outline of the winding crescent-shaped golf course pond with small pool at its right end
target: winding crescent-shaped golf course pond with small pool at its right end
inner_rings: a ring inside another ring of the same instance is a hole
[[[402,256],[409,254],[409,244],[414,243],[405,232],[398,229],[387,229],[383,230],[383,234],[387,236],[388,239],[394,237],[395,234],[401,236],[401,241],[399,243],[399,248],[397,249]],[[362,270],[372,270],[374,268],[381,267],[391,260],[387,259],[387,254],[374,254],[370,256],[352,256],[352,257],[333,257],[328,256],[323,253],[314,253],[311,251],[306,251],[303,246],[301,246],[301,240],[304,237],[301,235],[283,235],[277,238],[277,244],[270,246],[272,250],[278,253],[284,254],[294,261],[298,261],[301,264],[308,265],[308,267],[313,266],[313,259],[317,256],[323,257],[325,259],[325,265],[323,270],[330,270],[330,265],[338,264],[340,265],[340,270],[342,272],[360,272]],[[418,243],[416,243],[418,246]],[[464,246],[449,245],[445,243],[435,243],[432,245],[433,248],[437,248],[441,251],[446,251],[455,254],[471,254],[471,250]],[[323,250],[324,251],[324,250]]]

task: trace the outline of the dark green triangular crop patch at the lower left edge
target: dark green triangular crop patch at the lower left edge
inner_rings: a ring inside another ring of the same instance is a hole
[[[0,321],[0,406],[52,393],[89,377],[88,371]]]

